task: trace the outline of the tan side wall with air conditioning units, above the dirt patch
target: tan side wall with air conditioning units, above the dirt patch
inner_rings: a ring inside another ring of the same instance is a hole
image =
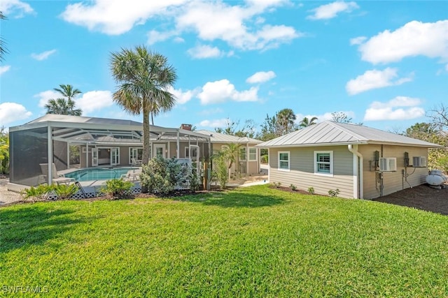
[[[388,195],[402,189],[419,186],[426,181],[427,167],[405,167],[405,152],[409,153],[409,165],[412,165],[413,156],[426,156],[428,149],[421,147],[405,147],[391,145],[359,145],[358,151],[363,155],[363,188],[364,198],[373,199],[381,195],[381,189],[377,172],[374,169],[374,151],[379,151],[379,157],[397,158],[396,172],[383,172],[383,193]],[[382,155],[381,155],[382,152]],[[403,174],[403,171],[405,175]],[[407,177],[405,177],[407,176]]]

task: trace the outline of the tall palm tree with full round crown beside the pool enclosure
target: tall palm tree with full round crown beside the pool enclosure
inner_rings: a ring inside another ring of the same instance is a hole
[[[176,98],[167,91],[176,82],[176,70],[162,54],[140,45],[111,53],[111,71],[120,86],[113,101],[130,114],[143,114],[143,163],[149,161],[149,117],[167,112]]]

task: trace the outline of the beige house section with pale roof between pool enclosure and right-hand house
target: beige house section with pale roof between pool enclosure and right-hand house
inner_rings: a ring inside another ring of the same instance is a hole
[[[225,135],[215,131],[197,131],[202,135],[209,135],[212,152],[216,153],[224,149],[228,144],[239,144],[239,156],[237,162],[232,165],[231,173],[235,174],[258,174],[260,173],[260,149],[255,147],[262,141],[251,137],[236,137],[235,135]]]

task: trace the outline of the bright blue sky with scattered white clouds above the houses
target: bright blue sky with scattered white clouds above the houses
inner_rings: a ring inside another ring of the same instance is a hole
[[[448,91],[447,1],[2,0],[0,125],[45,114],[59,84],[83,115],[134,119],[113,103],[111,52],[146,45],[179,75],[155,125],[213,130],[288,107],[303,117],[403,131]]]

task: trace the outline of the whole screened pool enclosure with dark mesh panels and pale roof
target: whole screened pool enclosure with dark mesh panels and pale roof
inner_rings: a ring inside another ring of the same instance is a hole
[[[151,126],[151,157],[208,161],[209,135],[189,128]],[[46,114],[10,127],[9,136],[10,183],[25,186],[51,183],[55,171],[135,166],[143,154],[142,124],[123,119]]]

